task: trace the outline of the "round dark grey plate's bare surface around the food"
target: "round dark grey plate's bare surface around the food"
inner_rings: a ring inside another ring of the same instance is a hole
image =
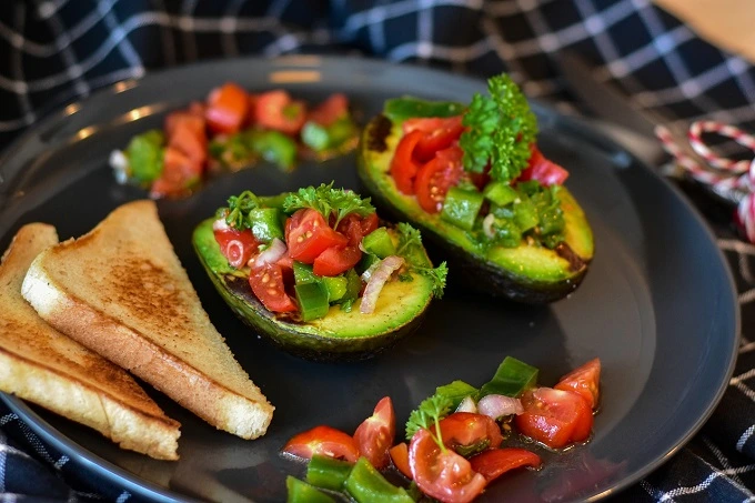
[[[426,69],[314,57],[213,62],[121,83],[53,114],[6,152],[0,244],[7,247],[31,221],[57,225],[62,239],[77,237],[117,205],[143,198],[114,182],[110,151],[159,127],[167,110],[202,99],[225,81],[252,90],[284,87],[312,101],[343,91],[363,118],[391,97],[465,101],[484,89],[482,81]],[[416,334],[382,358],[356,364],[298,360],[235,319],[202,271],[190,234],[244,189],[278,193],[331,180],[356,188],[354,159],[305,164],[291,174],[261,167],[217,179],[191,199],[160,201],[159,209],[212,322],[276,406],[264,437],[244,441],[215,431],[147,386],[183,424],[181,460],[159,462],[13,398],[2,400],[84,470],[133,494],[282,501],[285,475],[303,473],[278,454],[294,433],[318,424],[352,432],[384,395],[393,398],[401,431],[435,386],[454,379],[479,385],[505,355],[542,369],[543,383],[600,356],[603,400],[592,442],[547,455],[542,471],[506,475],[482,500],[572,501],[625,487],[687,441],[721,398],[738,333],[733,282],[711,232],[675,190],[600,133],[546,108],[536,110],[541,148],[571,171],[567,185],[595,232],[595,260],[570,298],[524,306],[451,290]]]

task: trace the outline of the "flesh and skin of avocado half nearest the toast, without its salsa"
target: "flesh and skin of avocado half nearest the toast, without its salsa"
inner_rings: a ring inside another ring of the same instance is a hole
[[[248,276],[229,265],[212,231],[212,219],[200,223],[192,242],[200,262],[233,312],[286,352],[316,361],[364,360],[391,348],[421,323],[432,300],[433,282],[412,273],[412,281],[383,286],[372,314],[360,313],[361,299],[350,312],[332,305],[310,322],[268,311],[254,296]]]

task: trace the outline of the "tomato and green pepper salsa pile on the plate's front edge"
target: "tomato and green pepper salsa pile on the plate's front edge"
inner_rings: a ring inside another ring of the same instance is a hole
[[[321,425],[294,435],[281,452],[309,461],[308,497],[325,490],[358,502],[409,503],[423,495],[470,502],[506,472],[543,464],[536,447],[530,442],[523,449],[517,436],[548,450],[588,440],[600,394],[600,360],[564,375],[555,389],[540,386],[537,373],[507,356],[479,389],[463,381],[439,386],[410,414],[407,442],[394,444],[395,415],[385,396],[353,435]],[[493,413],[457,409],[469,403]],[[410,481],[407,487],[389,482],[384,474],[392,469]],[[314,501],[298,500],[289,484],[289,501]]]

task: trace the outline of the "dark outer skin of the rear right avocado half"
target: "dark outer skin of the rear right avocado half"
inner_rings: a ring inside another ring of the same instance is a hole
[[[384,115],[375,117],[364,128],[356,160],[356,172],[362,192],[370,194],[372,203],[381,214],[395,221],[407,221],[422,232],[423,244],[433,262],[445,260],[449,263],[450,281],[462,283],[487,295],[526,304],[545,304],[561,300],[582,283],[588,269],[588,260],[582,261],[567,279],[561,281],[526,280],[492,261],[467,252],[446,240],[432,227],[424,225],[397,209],[372,178],[369,157],[365,154],[366,150],[385,152],[387,149],[385,137],[390,132],[390,120]]]

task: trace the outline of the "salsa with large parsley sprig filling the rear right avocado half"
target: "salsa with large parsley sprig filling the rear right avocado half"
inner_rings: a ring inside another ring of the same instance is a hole
[[[537,148],[537,120],[511,78],[493,77],[487,89],[467,107],[389,100],[383,113],[402,129],[391,177],[482,247],[554,250],[564,241],[558,191],[568,172]]]

